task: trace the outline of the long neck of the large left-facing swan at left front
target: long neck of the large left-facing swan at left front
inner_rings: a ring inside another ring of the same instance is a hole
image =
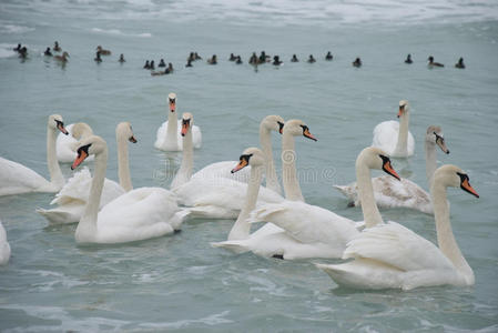
[[[96,234],[96,221],[99,215],[100,199],[105,180],[105,169],[108,167],[108,149],[95,155],[95,169],[93,172],[90,196],[84,209],[83,216],[78,223],[75,238],[79,242],[94,240]]]

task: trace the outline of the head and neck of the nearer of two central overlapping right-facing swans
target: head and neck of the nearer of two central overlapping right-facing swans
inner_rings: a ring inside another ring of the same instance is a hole
[[[282,134],[282,179],[284,183],[285,199],[291,201],[304,202],[301,192],[299,182],[296,171],[296,151],[294,137],[305,137],[313,141],[317,141],[308,127],[297,119],[289,120],[285,123]]]

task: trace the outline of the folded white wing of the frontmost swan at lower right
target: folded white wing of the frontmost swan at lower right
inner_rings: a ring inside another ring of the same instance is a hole
[[[372,259],[402,271],[455,269],[436,245],[396,222],[365,229],[347,244],[343,259],[348,258]]]

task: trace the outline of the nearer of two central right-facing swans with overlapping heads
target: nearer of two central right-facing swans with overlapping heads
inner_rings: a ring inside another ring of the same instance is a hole
[[[286,122],[283,129],[282,147],[287,149],[287,154],[294,155],[294,137],[304,135],[316,140],[306,124],[301,120]],[[294,161],[291,161],[294,165]],[[285,165],[284,165],[285,167]],[[202,190],[200,190],[202,189]],[[301,196],[301,188],[297,176],[292,168],[284,169],[284,189],[285,193],[292,193],[292,198]],[[187,183],[174,188],[172,191],[179,196],[179,202],[190,208],[192,218],[204,219],[235,219],[245,201],[244,193],[247,184],[227,178],[192,178]],[[275,191],[266,188],[260,189],[256,205],[261,203],[282,202],[282,196]]]

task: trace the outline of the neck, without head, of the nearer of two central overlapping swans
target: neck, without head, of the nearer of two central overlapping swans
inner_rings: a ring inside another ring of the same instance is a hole
[[[304,202],[299,182],[297,181],[294,135],[285,131],[282,138],[282,178],[285,199]]]

